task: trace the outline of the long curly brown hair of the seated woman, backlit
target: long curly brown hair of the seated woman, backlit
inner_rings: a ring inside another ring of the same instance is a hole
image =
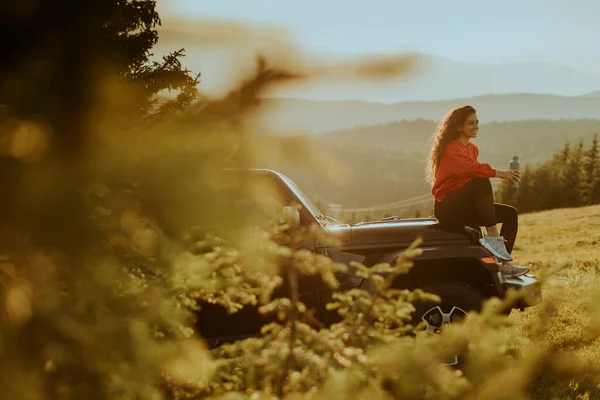
[[[448,114],[438,123],[437,129],[431,137],[431,152],[427,160],[427,169],[425,177],[431,185],[435,182],[437,171],[440,166],[440,160],[446,150],[446,146],[453,139],[458,139],[460,136],[461,127],[469,115],[475,113],[475,108],[466,105],[450,110]]]

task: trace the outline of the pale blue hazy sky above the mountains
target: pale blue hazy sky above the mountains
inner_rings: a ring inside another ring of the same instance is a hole
[[[417,51],[600,76],[600,0],[159,0],[158,8],[161,16],[280,26],[320,54]]]

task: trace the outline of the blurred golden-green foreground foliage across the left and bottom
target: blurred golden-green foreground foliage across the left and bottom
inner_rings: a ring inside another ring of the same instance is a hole
[[[493,299],[440,335],[413,332],[411,302],[430,295],[390,277],[418,242],[393,266],[352,265],[368,290],[338,286],[347,266],[300,246],[325,240],[318,229],[278,223],[251,182],[219,172],[302,156],[303,142],[244,124],[265,88],[297,76],[259,59],[223,98],[194,101],[198,76],[181,51],[149,61],[155,6],[3,6],[1,399],[525,399],[544,379],[561,398],[598,395],[597,367],[535,345],[559,296],[522,326]],[[335,292],[338,323],[315,321],[301,277]],[[209,350],[194,329],[207,303],[275,318],[259,337]],[[452,354],[461,369],[442,365]]]

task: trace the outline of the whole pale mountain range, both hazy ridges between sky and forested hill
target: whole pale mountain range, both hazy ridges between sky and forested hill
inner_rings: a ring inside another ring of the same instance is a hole
[[[471,104],[482,122],[600,119],[600,75],[546,63],[480,64],[427,54],[391,81],[304,82],[263,99],[258,118],[281,133],[322,133],[399,120],[437,121]],[[360,99],[360,100],[354,100]]]

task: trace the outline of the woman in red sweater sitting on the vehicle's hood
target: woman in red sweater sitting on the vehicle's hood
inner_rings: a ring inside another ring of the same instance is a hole
[[[518,182],[518,171],[501,171],[477,161],[479,149],[471,139],[477,137],[479,120],[471,106],[451,110],[440,121],[432,137],[427,165],[427,180],[435,198],[433,213],[442,229],[465,232],[465,226],[485,226],[487,236],[480,242],[503,264],[505,277],[516,277],[529,268],[512,264],[512,252],[518,229],[518,213],[514,207],[494,203],[489,178],[498,177]],[[502,223],[502,231],[496,224]]]

